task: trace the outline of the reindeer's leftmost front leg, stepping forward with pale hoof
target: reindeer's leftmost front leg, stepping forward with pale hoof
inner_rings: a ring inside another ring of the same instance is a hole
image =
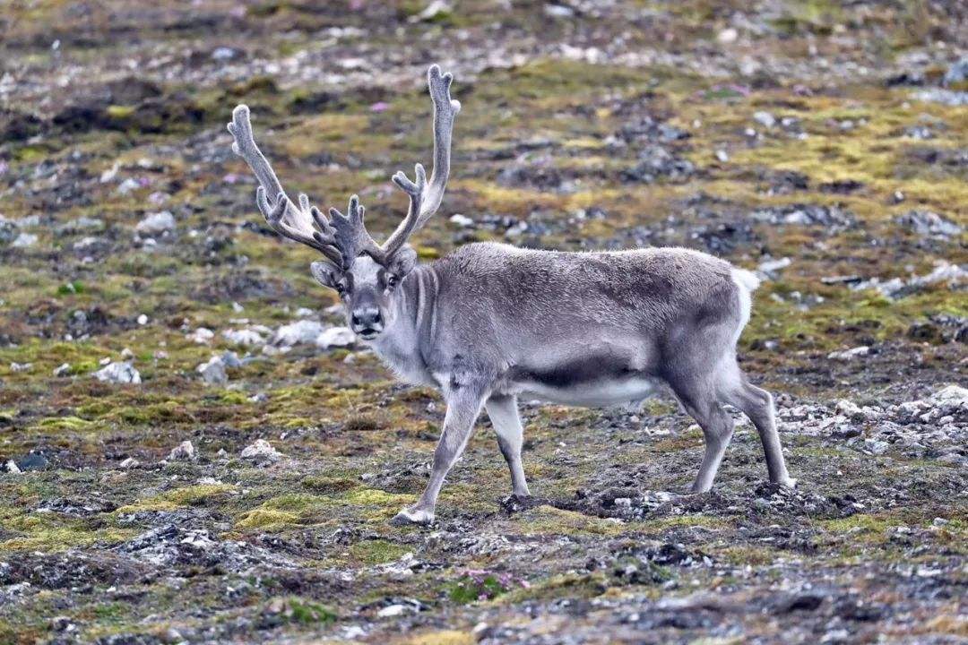
[[[468,445],[474,422],[480,414],[486,392],[484,388],[452,384],[444,389],[447,413],[443,418],[443,431],[434,451],[434,469],[430,482],[420,499],[413,506],[405,508],[390,520],[391,524],[430,524],[434,521],[434,510],[443,478],[457,458]]]

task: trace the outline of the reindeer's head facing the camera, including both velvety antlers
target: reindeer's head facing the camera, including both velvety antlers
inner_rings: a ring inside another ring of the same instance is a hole
[[[434,102],[434,170],[430,182],[419,163],[414,168],[415,181],[403,172],[393,175],[393,183],[408,194],[410,205],[407,217],[382,245],[367,232],[365,209],[356,195],[349,198],[346,215],[331,208],[329,218],[312,206],[305,194],[299,195],[298,206],[287,197],[253,138],[248,106],[238,105],[228,124],[228,132],[235,139],[232,150],[249,164],[258,179],[258,210],[276,232],[325,256],[325,260],[312,264],[313,276],[336,290],[346,305],[350,328],[367,340],[378,337],[393,323],[398,285],[416,264],[416,253],[408,239],[437,212],[450,174],[450,139],[461,103],[450,98],[450,73],[441,74],[440,68],[432,65],[427,81]]]

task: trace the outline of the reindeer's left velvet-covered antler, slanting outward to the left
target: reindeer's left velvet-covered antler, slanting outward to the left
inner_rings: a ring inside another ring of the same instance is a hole
[[[237,105],[232,110],[232,122],[228,124],[234,142],[232,151],[244,159],[258,180],[256,204],[266,223],[280,235],[317,249],[337,265],[344,263],[343,254],[337,249],[333,229],[319,210],[310,205],[309,197],[299,194],[299,206],[292,203],[279,182],[275,171],[256,145],[249,120],[249,106]],[[274,196],[275,203],[269,198]],[[320,230],[313,226],[314,221]]]

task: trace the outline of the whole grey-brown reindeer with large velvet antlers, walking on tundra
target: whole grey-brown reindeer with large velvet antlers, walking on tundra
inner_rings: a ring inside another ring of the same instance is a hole
[[[274,230],[317,249],[313,276],[335,289],[349,327],[398,377],[439,388],[447,411],[430,482],[394,524],[429,524],[444,477],[463,453],[481,412],[498,435],[515,495],[529,495],[521,462],[518,397],[582,406],[641,402],[667,385],[706,440],[693,492],[711,489],[733,435],[724,404],[756,426],[770,481],[789,487],[770,393],[746,379],[736,344],[759,280],[690,249],[563,252],[474,243],[417,264],[409,237],[438,210],[450,175],[454,119],[450,73],[428,72],[434,103],[434,168],[419,163],[411,181],[392,181],[409,197],[407,216],[379,245],[364,225],[359,198],[329,217],[305,194],[290,200],[259,151],[249,108],[238,105],[232,150],[258,179],[256,203]]]

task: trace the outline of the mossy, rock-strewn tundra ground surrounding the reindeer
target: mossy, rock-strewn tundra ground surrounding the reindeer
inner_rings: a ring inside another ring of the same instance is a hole
[[[966,20],[6,3],[0,642],[965,642]],[[436,524],[388,524],[441,400],[320,346],[333,294],[260,220],[225,124],[248,103],[291,193],[357,191],[389,231],[389,176],[430,161],[431,62],[464,109],[422,257],[679,245],[760,271],[742,366],[797,491],[743,423],[686,494],[702,437],[669,397],[526,403],[533,498],[507,498],[482,419]]]

